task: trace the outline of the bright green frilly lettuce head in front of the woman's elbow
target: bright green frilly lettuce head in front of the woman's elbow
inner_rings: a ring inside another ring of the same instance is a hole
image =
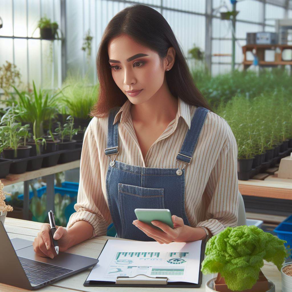
[[[226,227],[207,241],[201,271],[220,273],[232,291],[251,289],[264,265],[263,260],[281,270],[287,256],[284,243],[287,241],[254,225]]]

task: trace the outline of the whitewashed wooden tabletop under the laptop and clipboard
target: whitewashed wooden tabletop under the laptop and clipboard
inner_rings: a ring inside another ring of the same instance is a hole
[[[6,218],[4,227],[8,233],[8,236],[10,239],[13,239],[15,237],[23,238],[27,240],[34,241],[34,238],[37,236],[37,233],[39,232],[41,228],[42,223],[33,222],[33,221],[27,221],[27,220],[21,220],[21,219],[15,219],[15,218]],[[114,239],[114,237],[107,237],[107,236],[97,236],[92,239],[88,239],[84,242],[81,242],[80,244],[77,244],[75,246],[72,246],[69,248],[66,252],[78,254],[81,256],[88,256],[91,258],[98,258],[100,251],[102,250],[105,242],[107,239]],[[264,260],[264,266],[261,268],[263,274],[267,277],[267,279],[270,279],[276,287],[276,292],[281,292],[281,272],[277,269],[277,267],[272,263],[267,263]],[[123,292],[134,292],[137,291],[136,287],[85,287],[83,286],[84,281],[86,280],[88,274],[90,273],[91,268],[79,272],[75,275],[69,276],[65,279],[61,279],[53,284],[44,286],[41,288],[41,291],[53,291],[53,292],[72,292],[72,291],[106,291],[106,292],[117,292],[117,291],[123,291]],[[167,289],[169,291],[189,291],[192,289],[192,291],[196,292],[203,292],[205,290],[205,283],[211,278],[216,277],[217,274],[209,274],[209,275],[203,275],[202,278],[202,284],[200,288],[139,288],[139,291],[161,291],[165,292]],[[188,290],[189,289],[189,290]],[[9,286],[6,284],[0,283],[0,291],[6,291],[6,292],[16,292],[16,291],[28,291],[25,289]]]

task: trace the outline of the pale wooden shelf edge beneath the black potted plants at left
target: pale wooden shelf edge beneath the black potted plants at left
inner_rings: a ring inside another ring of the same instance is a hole
[[[58,173],[61,171],[66,171],[69,169],[77,168],[80,166],[80,159],[72,162],[57,164],[51,167],[41,168],[39,170],[27,171],[21,174],[9,174],[5,179],[1,179],[1,182],[6,185],[12,185],[14,183],[24,182],[26,180],[32,180],[34,178],[39,178],[41,176],[50,175],[53,173]]]

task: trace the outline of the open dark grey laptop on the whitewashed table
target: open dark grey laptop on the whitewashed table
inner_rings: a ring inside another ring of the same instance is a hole
[[[44,258],[34,252],[32,243],[21,238],[10,240],[0,221],[0,283],[34,290],[98,263],[98,259],[67,252]]]

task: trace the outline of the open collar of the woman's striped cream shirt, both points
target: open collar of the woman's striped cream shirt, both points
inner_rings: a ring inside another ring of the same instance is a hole
[[[126,100],[126,102],[122,105],[122,107],[119,109],[117,114],[115,115],[113,125],[120,119],[121,123],[124,123],[129,115],[130,108],[132,103],[130,100]],[[190,105],[187,104],[184,100],[182,100],[178,96],[178,112],[176,114],[176,119],[179,119],[179,117],[183,117],[185,120],[187,126],[189,129],[191,128],[191,114],[190,114]]]

